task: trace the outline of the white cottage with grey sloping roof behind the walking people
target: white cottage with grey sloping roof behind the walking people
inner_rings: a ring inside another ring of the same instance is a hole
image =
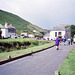
[[[65,37],[65,26],[66,24],[60,24],[57,25],[56,27],[54,27],[51,31],[50,31],[50,40],[55,40],[56,37],[59,38],[64,38]]]

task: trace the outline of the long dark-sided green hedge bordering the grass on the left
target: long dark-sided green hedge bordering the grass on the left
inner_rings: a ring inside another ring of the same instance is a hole
[[[13,50],[26,49],[35,45],[49,43],[48,41],[38,41],[33,39],[13,39],[13,40],[0,40],[0,52],[10,52]]]

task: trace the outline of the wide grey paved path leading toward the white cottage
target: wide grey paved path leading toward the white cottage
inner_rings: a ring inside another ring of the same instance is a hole
[[[0,75],[54,75],[74,45],[55,47],[0,65]]]

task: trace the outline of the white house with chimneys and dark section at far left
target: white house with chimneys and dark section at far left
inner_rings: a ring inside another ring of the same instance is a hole
[[[0,29],[2,31],[2,37],[4,38],[14,38],[16,37],[16,28],[12,26],[12,24],[8,25],[8,23],[5,23],[4,26],[0,24]]]

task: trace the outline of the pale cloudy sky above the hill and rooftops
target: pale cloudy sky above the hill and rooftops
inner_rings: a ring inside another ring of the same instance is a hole
[[[0,0],[0,9],[43,29],[75,24],[75,0]]]

